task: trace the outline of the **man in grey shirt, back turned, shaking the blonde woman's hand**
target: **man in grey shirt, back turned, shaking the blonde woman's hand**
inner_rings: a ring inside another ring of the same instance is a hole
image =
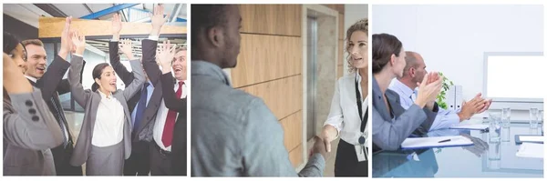
[[[237,5],[191,5],[191,22],[191,176],[323,176],[322,140],[296,173],[277,118],[222,71],[240,51]]]

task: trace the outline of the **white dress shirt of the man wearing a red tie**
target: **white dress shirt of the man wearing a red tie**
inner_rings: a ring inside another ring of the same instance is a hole
[[[175,91],[179,89],[179,80],[177,80],[177,83],[175,83]],[[182,85],[182,94],[181,98],[186,97],[187,94],[187,86],[186,81],[182,81],[184,84]],[[154,141],[156,141],[156,145],[160,146],[161,149],[170,151],[171,146],[164,146],[163,142],[161,141],[161,137],[163,136],[163,127],[165,126],[165,119],[167,119],[167,114],[169,113],[169,109],[165,106],[164,100],[161,100],[160,108],[158,108],[158,116],[156,116],[156,123],[154,123]],[[177,116],[179,114],[177,113]],[[176,121],[176,120],[175,120]]]

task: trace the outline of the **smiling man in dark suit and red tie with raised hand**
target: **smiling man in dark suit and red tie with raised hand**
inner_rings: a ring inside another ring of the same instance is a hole
[[[163,90],[163,101],[170,110],[179,113],[172,141],[172,170],[177,176],[186,176],[186,97],[181,97],[181,92],[174,88],[177,81],[186,85],[186,47],[176,50],[171,48],[170,43],[164,44],[161,48],[158,60],[161,65],[161,88]],[[148,67],[154,67],[152,62],[147,62]],[[171,75],[171,69],[175,71],[175,78]],[[182,89],[181,89],[182,90]]]

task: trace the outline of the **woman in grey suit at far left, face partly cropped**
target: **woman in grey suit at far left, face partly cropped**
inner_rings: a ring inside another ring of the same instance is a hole
[[[4,176],[55,176],[50,148],[63,143],[61,128],[25,64],[25,46],[4,33]]]

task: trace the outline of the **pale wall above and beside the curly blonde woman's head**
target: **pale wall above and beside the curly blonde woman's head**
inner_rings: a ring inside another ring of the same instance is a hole
[[[344,8],[346,11],[344,12],[344,38],[346,38],[346,31],[349,26],[354,25],[360,19],[368,17],[368,5],[344,5]],[[343,45],[346,46],[346,42]],[[344,59],[342,60],[344,61],[344,75],[347,74],[346,57],[347,53],[344,52]]]

